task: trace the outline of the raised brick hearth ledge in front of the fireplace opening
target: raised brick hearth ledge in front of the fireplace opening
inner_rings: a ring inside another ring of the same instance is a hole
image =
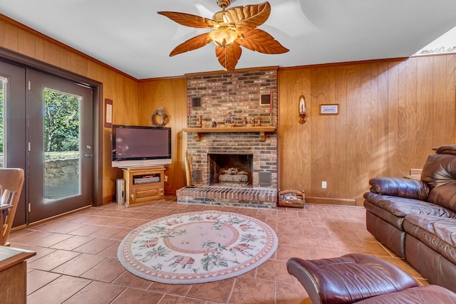
[[[177,203],[274,209],[277,190],[271,188],[195,187],[177,190]]]

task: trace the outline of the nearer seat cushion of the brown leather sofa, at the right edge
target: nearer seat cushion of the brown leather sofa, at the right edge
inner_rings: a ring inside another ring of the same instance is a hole
[[[456,263],[456,216],[442,218],[413,214],[405,216],[403,225],[408,234]]]

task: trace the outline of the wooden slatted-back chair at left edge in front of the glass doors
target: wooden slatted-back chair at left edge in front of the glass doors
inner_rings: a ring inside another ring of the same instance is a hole
[[[0,169],[0,246],[9,246],[6,240],[13,225],[14,214],[16,214],[23,185],[23,169]]]

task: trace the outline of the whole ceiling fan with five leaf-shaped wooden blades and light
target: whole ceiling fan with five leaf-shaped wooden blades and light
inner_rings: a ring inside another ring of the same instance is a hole
[[[212,19],[175,11],[158,12],[183,26],[212,28],[209,33],[203,33],[181,43],[171,51],[170,57],[196,50],[214,41],[215,54],[219,63],[225,70],[234,70],[241,57],[240,46],[266,54],[280,54],[289,51],[269,33],[257,28],[268,19],[271,13],[271,5],[268,2],[227,9],[231,0],[216,1],[222,11],[215,13]]]

